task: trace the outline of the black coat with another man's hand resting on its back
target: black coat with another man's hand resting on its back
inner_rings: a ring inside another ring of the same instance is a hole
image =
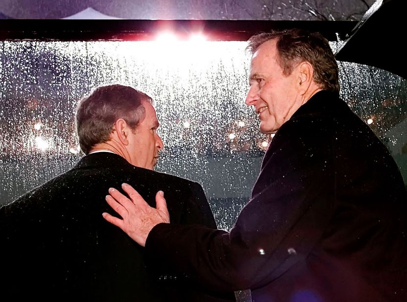
[[[144,248],[103,219],[112,213],[108,189],[123,182],[154,207],[163,190],[174,223],[216,227],[198,183],[134,167],[117,154],[87,155],[0,209],[0,300],[217,301],[182,276],[147,269]]]

